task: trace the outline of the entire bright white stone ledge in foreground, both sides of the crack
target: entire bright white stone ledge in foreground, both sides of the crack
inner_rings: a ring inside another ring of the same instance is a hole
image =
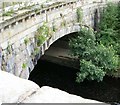
[[[1,103],[99,103],[59,89],[39,86],[0,70]]]

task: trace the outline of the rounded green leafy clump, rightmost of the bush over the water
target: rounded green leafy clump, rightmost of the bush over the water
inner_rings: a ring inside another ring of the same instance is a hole
[[[89,54],[85,57],[92,60],[96,66],[103,69],[106,73],[114,72],[118,66],[118,56],[115,54],[115,50],[102,44],[96,45],[95,49],[90,49]]]

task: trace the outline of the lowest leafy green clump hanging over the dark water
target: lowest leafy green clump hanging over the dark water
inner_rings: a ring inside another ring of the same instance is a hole
[[[80,61],[80,72],[77,73],[76,82],[83,82],[84,79],[102,81],[105,76],[105,72],[95,66],[92,61],[81,60]]]

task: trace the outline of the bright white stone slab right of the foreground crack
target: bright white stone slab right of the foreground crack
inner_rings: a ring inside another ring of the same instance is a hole
[[[84,99],[56,88],[44,86],[36,94],[28,97],[25,103],[100,103],[98,101]]]

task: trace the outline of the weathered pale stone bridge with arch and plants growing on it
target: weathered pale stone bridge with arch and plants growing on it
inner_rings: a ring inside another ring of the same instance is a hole
[[[1,70],[21,78],[28,78],[38,59],[52,43],[59,38],[80,30],[77,21],[77,8],[83,12],[81,23],[94,27],[95,12],[106,2],[85,3],[82,1],[61,2],[47,8],[31,10],[11,17],[0,23],[0,67]],[[40,26],[47,24],[51,35],[37,46],[35,33]],[[55,28],[56,30],[53,30]],[[26,42],[27,43],[26,43]]]

